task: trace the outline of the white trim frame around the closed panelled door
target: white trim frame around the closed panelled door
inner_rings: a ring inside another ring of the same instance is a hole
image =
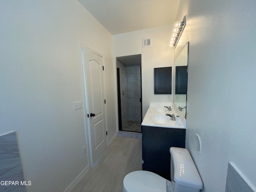
[[[89,48],[88,46],[85,46],[84,44],[79,42],[79,53],[80,53],[80,71],[81,71],[81,81],[82,81],[82,100],[83,100],[83,111],[84,111],[84,125],[85,125],[85,134],[86,134],[86,149],[88,153],[88,162],[90,162],[90,166],[94,167],[100,159],[98,159],[96,162],[92,161],[92,140],[91,140],[91,134],[90,134],[90,118],[87,117],[87,114],[89,114],[89,108],[88,108],[88,84],[86,80],[86,72],[85,72],[85,52],[84,49],[89,50],[99,56],[102,57],[102,65],[105,67],[105,58],[104,55],[93,50],[92,48]],[[103,81],[104,81],[104,97],[106,98],[106,78],[105,78],[105,70],[103,70]],[[107,101],[106,101],[107,102]],[[106,131],[108,131],[108,119],[107,119],[107,107],[105,106],[105,126]],[[106,135],[107,140],[107,147],[108,147],[108,135]],[[89,142],[87,142],[89,141]]]

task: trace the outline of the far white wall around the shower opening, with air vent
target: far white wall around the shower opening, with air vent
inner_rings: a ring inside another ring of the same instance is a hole
[[[142,118],[148,110],[150,101],[172,102],[173,100],[172,95],[169,100],[170,95],[154,94],[154,68],[172,66],[173,78],[174,48],[169,46],[171,31],[172,25],[167,25],[113,36],[114,58],[142,54]],[[142,47],[143,38],[151,38],[150,47]],[[116,72],[116,63],[114,70]],[[115,98],[117,102],[117,96]]]

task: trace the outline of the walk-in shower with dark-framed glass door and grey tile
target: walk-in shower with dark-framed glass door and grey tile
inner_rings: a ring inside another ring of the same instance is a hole
[[[141,55],[116,58],[119,130],[141,132]]]

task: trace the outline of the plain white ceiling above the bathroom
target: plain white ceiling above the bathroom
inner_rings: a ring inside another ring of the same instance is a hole
[[[180,0],[78,0],[112,35],[175,22]]]

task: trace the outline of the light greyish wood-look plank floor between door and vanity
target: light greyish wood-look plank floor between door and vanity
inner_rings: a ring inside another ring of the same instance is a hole
[[[142,170],[141,139],[118,136],[72,192],[122,192],[124,176],[135,170]]]

